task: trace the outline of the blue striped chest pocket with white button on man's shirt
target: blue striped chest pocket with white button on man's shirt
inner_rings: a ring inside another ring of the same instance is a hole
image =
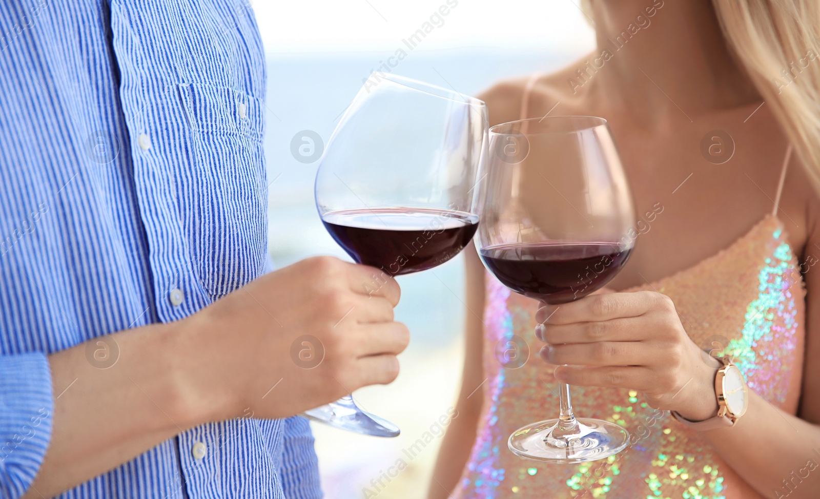
[[[213,299],[262,274],[267,246],[264,104],[235,88],[178,84],[192,174],[180,215],[192,266]]]

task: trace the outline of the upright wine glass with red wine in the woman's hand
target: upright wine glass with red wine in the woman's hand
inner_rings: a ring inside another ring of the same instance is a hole
[[[603,288],[632,250],[635,210],[606,120],[556,116],[490,128],[477,203],[476,248],[506,287],[559,305]],[[518,456],[557,463],[622,451],[626,429],[576,419],[569,386],[558,383],[558,419],[527,424],[509,438]]]

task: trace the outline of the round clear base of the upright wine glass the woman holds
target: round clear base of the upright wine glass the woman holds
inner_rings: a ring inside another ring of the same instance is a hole
[[[584,463],[617,454],[629,444],[629,433],[614,423],[578,419],[574,436],[555,438],[558,420],[527,424],[510,435],[508,447],[513,454],[552,463]]]

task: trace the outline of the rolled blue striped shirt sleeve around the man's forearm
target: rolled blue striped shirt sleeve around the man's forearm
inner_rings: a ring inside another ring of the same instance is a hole
[[[53,411],[48,357],[0,356],[0,497],[16,499],[30,487],[48,449]]]

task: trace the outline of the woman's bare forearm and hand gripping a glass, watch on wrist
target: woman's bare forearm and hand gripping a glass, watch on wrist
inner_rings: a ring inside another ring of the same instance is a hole
[[[806,247],[820,255],[818,231],[809,233]],[[808,322],[801,417],[750,389],[749,408],[733,427],[701,433],[752,488],[772,499],[786,494],[814,498],[820,489],[820,427],[814,424],[820,421],[820,364],[810,361],[820,356],[820,267],[809,268],[804,279]],[[557,366],[556,378],[573,385],[638,389],[651,406],[678,411],[688,420],[716,415],[713,381],[719,364],[691,342],[667,297],[651,292],[590,296],[544,306],[536,320],[548,316],[547,324],[536,328],[548,343],[541,356],[549,364],[573,365]]]

